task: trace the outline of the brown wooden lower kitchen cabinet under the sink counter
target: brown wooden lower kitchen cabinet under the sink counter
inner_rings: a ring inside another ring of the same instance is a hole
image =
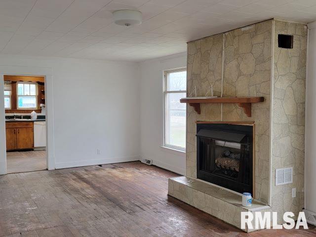
[[[6,127],[6,150],[33,149],[33,122],[8,122]]]

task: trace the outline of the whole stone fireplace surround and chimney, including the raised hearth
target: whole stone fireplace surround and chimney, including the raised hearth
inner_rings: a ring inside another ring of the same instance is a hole
[[[278,48],[278,34],[293,35],[293,48]],[[304,207],[306,47],[306,25],[279,20],[188,43],[188,95],[196,87],[197,96],[205,96],[213,85],[216,96],[263,96],[265,101],[252,104],[251,118],[236,104],[201,104],[200,115],[187,106],[187,173],[169,180],[170,196],[240,228],[241,197],[197,179],[196,122],[251,122],[256,205],[250,211],[277,211],[278,218],[292,211],[297,217]],[[276,186],[275,169],[282,167],[293,167],[293,183]]]

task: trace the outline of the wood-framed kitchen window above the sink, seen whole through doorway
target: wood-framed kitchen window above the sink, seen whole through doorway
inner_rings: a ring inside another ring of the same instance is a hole
[[[17,109],[37,109],[37,87],[35,82],[17,83]]]

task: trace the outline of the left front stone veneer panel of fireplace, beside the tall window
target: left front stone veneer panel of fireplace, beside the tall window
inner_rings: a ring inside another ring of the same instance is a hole
[[[213,85],[216,96],[222,93],[223,34],[188,43],[187,91],[188,95],[196,86],[197,96],[205,96]],[[201,104],[201,114],[187,106],[187,176],[197,177],[197,120],[219,121],[221,105]]]

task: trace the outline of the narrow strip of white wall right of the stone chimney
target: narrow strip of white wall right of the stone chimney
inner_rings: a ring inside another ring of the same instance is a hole
[[[306,78],[305,209],[316,212],[316,22],[308,25]]]

